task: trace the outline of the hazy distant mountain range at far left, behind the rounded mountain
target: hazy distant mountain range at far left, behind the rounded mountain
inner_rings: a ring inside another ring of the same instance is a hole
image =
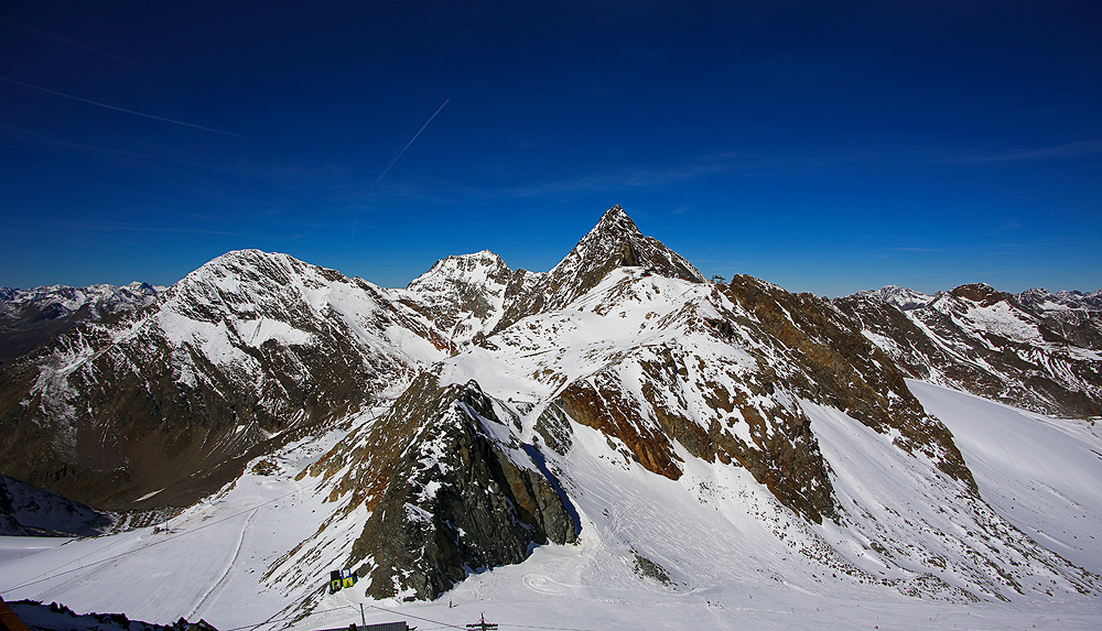
[[[0,363],[86,322],[145,308],[156,296],[156,289],[145,283],[25,291],[0,287]]]

